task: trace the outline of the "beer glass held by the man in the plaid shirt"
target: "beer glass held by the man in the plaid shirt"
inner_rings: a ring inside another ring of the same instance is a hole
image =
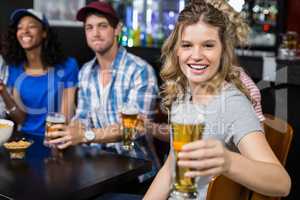
[[[46,117],[45,140],[50,141],[50,140],[56,139],[57,137],[51,137],[49,135],[49,133],[54,132],[54,131],[62,131],[61,129],[58,129],[53,126],[58,125],[58,124],[65,124],[65,123],[66,123],[66,118],[62,113],[57,113],[57,112],[48,113],[47,117]],[[51,145],[49,147],[51,148],[51,154],[52,154],[53,158],[60,158],[63,156],[62,151],[59,150],[56,147],[56,145]]]

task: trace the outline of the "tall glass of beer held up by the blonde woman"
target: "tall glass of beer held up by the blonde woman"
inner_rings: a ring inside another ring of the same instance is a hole
[[[195,178],[184,176],[190,169],[177,165],[177,155],[183,145],[202,138],[205,126],[203,113],[199,111],[199,107],[191,103],[182,103],[172,106],[171,141],[175,159],[173,165],[173,189],[169,198],[171,200],[198,199],[196,180]]]

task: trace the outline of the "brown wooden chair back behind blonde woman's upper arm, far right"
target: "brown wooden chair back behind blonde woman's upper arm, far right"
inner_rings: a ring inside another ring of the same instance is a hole
[[[265,114],[264,129],[266,138],[277,156],[278,160],[284,166],[290,150],[293,139],[293,128],[284,120]],[[268,197],[253,192],[251,200],[280,200],[280,197]]]

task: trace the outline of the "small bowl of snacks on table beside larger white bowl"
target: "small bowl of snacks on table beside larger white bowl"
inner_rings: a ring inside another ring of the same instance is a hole
[[[26,155],[26,150],[33,144],[32,140],[9,141],[3,144],[8,150],[11,159],[23,159]]]

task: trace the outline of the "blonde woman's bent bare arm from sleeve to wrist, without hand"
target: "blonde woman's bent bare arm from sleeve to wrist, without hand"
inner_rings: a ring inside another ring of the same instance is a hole
[[[246,135],[238,148],[241,155],[230,153],[231,165],[226,176],[268,196],[289,194],[291,179],[274,155],[264,134]]]

